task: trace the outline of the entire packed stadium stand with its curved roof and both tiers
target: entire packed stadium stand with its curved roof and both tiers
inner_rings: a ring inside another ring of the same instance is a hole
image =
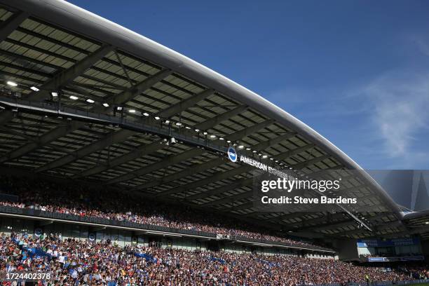
[[[341,177],[326,196],[364,210],[262,212],[254,165],[229,149],[294,176]],[[65,1],[0,0],[0,188],[0,275],[53,273],[39,285],[428,279],[428,212],[404,212],[263,97]]]

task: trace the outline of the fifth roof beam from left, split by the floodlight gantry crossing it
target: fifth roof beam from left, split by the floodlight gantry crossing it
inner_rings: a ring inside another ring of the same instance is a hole
[[[230,111],[226,111],[223,114],[219,114],[218,116],[215,116],[214,118],[210,118],[207,121],[204,121],[203,123],[199,123],[194,126],[194,128],[201,128],[201,126],[208,126],[209,128],[216,125],[217,123],[220,123],[234,114],[240,114],[245,109],[244,106],[236,107],[235,109],[232,109]],[[165,147],[164,144],[160,144],[161,141],[158,140],[151,144],[142,145],[140,147],[137,147],[134,151],[131,151],[128,154],[125,154],[123,156],[118,156],[117,158],[114,158],[113,160],[109,161],[107,165],[98,165],[94,168],[90,168],[86,171],[81,172],[81,174],[76,175],[75,177],[86,177],[90,175],[95,175],[100,172],[103,172],[105,170],[109,170],[111,168],[116,167],[117,165],[121,165],[123,163],[126,163],[128,161],[135,160],[137,158],[141,158],[142,156],[145,156],[147,154],[151,154],[155,151],[158,151],[159,149],[163,149]]]

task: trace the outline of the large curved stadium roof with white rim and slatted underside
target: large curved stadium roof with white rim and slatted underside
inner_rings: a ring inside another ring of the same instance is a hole
[[[4,167],[139,191],[290,231],[355,238],[406,231],[397,205],[365,172],[343,184],[377,211],[258,212],[252,168],[228,161],[229,144],[308,176],[361,168],[263,97],[113,22],[64,1],[0,5]],[[164,144],[171,136],[181,143]]]

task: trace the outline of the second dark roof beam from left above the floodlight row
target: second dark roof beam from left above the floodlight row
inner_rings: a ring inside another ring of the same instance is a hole
[[[73,81],[79,75],[83,74],[86,69],[89,69],[93,64],[101,60],[105,55],[114,50],[113,46],[104,45],[95,50],[87,57],[83,58],[79,62],[76,62],[69,69],[61,71],[59,74],[54,76],[52,79],[44,83],[39,91],[34,91],[28,95],[27,98],[32,100],[43,100],[45,97],[50,96],[51,91],[58,90],[60,87],[67,85],[67,83]]]

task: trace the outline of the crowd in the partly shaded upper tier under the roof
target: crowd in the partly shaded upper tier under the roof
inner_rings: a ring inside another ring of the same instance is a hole
[[[119,191],[90,189],[79,185],[70,186],[11,176],[0,177],[0,182],[0,193],[18,196],[17,202],[3,199],[0,205],[311,246],[219,213],[137,198]]]

